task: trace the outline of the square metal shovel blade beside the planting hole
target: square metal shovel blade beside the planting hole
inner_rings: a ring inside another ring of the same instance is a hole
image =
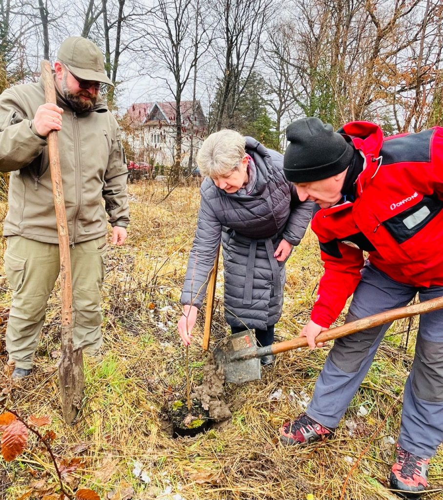
[[[213,351],[226,382],[243,383],[261,378],[261,363],[252,357],[257,350],[254,330],[244,330],[220,340]],[[251,356],[251,357],[249,357]]]

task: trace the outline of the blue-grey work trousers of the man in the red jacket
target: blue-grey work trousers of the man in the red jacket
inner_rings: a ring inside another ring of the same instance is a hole
[[[361,271],[346,321],[406,305],[418,292],[427,300],[443,295],[443,286],[399,283],[367,263]],[[326,427],[336,427],[370,367],[389,324],[334,341],[315,383],[306,413]],[[403,394],[398,444],[422,458],[443,441],[443,310],[420,315],[415,356]]]

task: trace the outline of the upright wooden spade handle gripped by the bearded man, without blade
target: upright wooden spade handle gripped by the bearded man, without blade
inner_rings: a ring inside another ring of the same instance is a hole
[[[44,83],[45,102],[56,104],[55,85],[49,61],[42,60],[40,62],[40,69]],[[61,184],[60,156],[58,153],[58,137],[56,130],[51,130],[48,133],[47,145],[60,251],[61,325],[69,326],[72,322],[72,278],[69,255],[69,235],[67,232],[66,209],[64,207],[63,187]]]

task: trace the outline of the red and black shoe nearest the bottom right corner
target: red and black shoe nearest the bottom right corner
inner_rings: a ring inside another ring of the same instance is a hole
[[[420,458],[396,446],[397,457],[390,473],[390,487],[397,489],[395,494],[402,498],[420,498],[427,487],[429,458]]]

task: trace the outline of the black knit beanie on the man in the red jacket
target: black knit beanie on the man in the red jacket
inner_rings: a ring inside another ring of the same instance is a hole
[[[354,148],[334,132],[332,125],[309,116],[286,129],[289,141],[284,153],[283,171],[292,182],[311,182],[332,177],[350,163]]]

